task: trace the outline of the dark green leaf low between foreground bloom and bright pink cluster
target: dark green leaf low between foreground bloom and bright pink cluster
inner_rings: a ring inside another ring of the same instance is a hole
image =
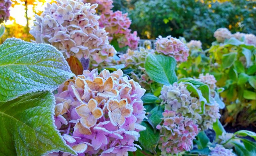
[[[139,142],[146,150],[156,153],[156,147],[160,138],[159,130],[154,132],[152,126],[147,122],[141,122],[147,129],[140,131]]]

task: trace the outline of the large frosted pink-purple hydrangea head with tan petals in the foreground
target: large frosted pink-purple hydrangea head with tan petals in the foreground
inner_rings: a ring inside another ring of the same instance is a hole
[[[145,118],[145,89],[117,70],[84,71],[67,80],[55,95],[55,124],[78,154],[126,155]],[[61,153],[61,152],[60,152]]]

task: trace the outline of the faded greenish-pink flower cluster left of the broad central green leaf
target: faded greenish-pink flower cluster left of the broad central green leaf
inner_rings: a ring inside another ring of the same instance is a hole
[[[119,61],[119,63],[125,64],[125,67],[135,69],[131,72],[130,77],[146,90],[150,90],[150,84],[153,82],[144,68],[146,57],[149,53],[154,53],[154,51],[146,50],[145,48],[140,48],[139,50],[128,49],[127,53],[120,55]]]

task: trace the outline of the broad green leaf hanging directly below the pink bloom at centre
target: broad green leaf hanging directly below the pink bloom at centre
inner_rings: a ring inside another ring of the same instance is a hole
[[[149,54],[145,69],[150,78],[158,83],[169,85],[177,81],[176,61],[173,57]]]

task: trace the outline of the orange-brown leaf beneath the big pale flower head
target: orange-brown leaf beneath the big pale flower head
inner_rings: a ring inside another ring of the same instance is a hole
[[[71,71],[75,75],[81,75],[83,74],[83,66],[82,63],[74,56],[70,56],[66,59],[68,65],[70,66]]]

